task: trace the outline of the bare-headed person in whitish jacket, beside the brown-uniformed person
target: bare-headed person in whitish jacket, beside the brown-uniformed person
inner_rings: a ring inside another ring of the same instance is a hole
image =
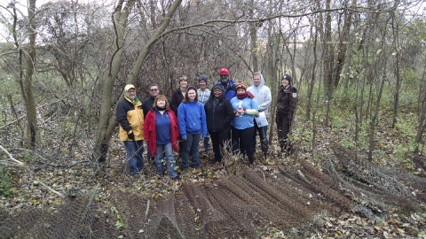
[[[259,112],[264,112],[265,117],[268,116],[268,108],[272,103],[271,89],[264,85],[264,76],[260,72],[253,73],[253,85],[250,86],[247,91],[249,91],[253,96],[255,96],[256,102],[259,105]],[[256,122],[256,120],[258,122]],[[257,123],[260,123],[259,114],[255,115],[255,130],[251,144],[253,150],[256,152],[256,135],[259,133],[261,149],[264,152],[264,158],[266,162],[269,162],[269,146],[268,146],[268,137],[267,130],[268,125],[264,124],[258,126]]]

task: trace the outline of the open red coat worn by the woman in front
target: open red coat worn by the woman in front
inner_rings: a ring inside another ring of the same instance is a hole
[[[169,115],[170,119],[170,135],[171,135],[171,145],[173,150],[177,151],[177,140],[179,139],[179,127],[177,127],[177,117],[174,112],[168,108],[166,112]],[[149,152],[151,155],[155,155],[157,152],[157,127],[155,127],[155,118],[156,112],[154,109],[150,110],[146,114],[146,119],[144,122],[144,136],[146,143],[149,147]]]

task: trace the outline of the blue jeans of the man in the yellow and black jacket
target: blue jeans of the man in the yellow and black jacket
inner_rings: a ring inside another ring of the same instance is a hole
[[[124,141],[126,157],[130,166],[130,175],[144,168],[144,141]]]

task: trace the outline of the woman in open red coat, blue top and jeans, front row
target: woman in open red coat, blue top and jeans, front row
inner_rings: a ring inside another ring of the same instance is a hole
[[[165,158],[170,178],[178,180],[173,150],[177,151],[179,129],[176,115],[170,110],[166,96],[155,97],[153,109],[146,114],[144,135],[151,155],[155,155],[157,173],[159,175],[164,173]]]

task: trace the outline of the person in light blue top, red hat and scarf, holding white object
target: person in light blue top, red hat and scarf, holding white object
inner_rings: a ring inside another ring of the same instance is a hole
[[[255,130],[255,114],[259,112],[255,96],[247,91],[246,85],[242,82],[236,86],[237,96],[231,99],[234,116],[231,123],[233,151],[240,150],[248,156],[250,166],[255,164],[254,150],[251,145],[251,138]]]

